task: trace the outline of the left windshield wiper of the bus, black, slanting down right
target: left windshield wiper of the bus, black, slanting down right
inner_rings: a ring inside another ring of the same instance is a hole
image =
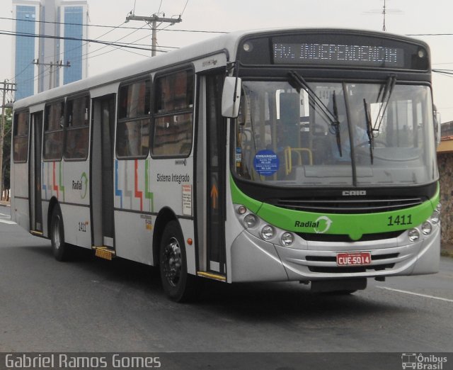
[[[343,157],[343,154],[341,152],[341,138],[340,138],[340,122],[338,121],[338,107],[337,107],[337,102],[336,102],[336,95],[335,91],[333,91],[333,113],[327,108],[326,104],[323,103],[321,99],[319,99],[319,96],[316,95],[316,93],[311,89],[311,87],[306,83],[304,80],[304,77],[302,77],[299,73],[295,71],[290,71],[288,73],[289,75],[289,84],[294,87],[294,89],[297,89],[297,91],[300,93],[300,89],[305,89],[309,96],[311,97],[312,101],[318,108],[321,110],[321,113],[323,113],[323,116],[327,118],[329,123],[331,123],[331,126],[333,130],[335,131],[336,135],[336,141],[337,141],[337,146],[338,146],[338,152],[340,153],[340,157]]]

